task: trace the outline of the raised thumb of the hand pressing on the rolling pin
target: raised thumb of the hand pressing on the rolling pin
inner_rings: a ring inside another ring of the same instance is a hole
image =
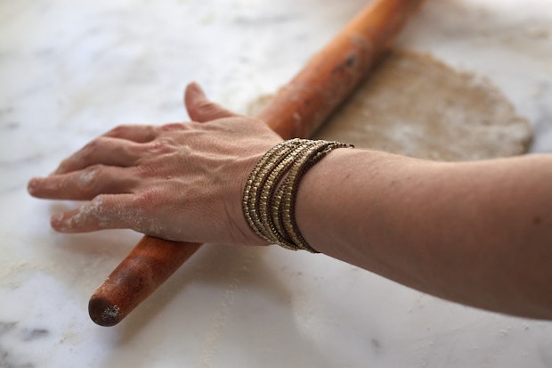
[[[184,104],[188,115],[194,121],[204,123],[209,120],[235,117],[237,114],[226,110],[215,102],[207,100],[206,95],[197,83],[191,83],[184,93]]]

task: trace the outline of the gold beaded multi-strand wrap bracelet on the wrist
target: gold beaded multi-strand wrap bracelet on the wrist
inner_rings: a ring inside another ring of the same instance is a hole
[[[297,226],[296,194],[309,168],[330,151],[345,147],[353,145],[295,138],[267,151],[251,171],[243,191],[241,204],[249,227],[264,241],[318,253]]]

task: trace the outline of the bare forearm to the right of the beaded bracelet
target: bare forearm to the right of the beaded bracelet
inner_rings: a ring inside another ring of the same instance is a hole
[[[449,164],[338,150],[304,177],[296,217],[331,257],[442,298],[552,318],[550,183],[551,156]]]

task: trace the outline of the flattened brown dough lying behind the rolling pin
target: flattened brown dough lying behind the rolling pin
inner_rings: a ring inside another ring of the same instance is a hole
[[[267,98],[253,102],[250,112]],[[532,129],[488,80],[431,55],[394,51],[314,137],[454,161],[524,153]]]

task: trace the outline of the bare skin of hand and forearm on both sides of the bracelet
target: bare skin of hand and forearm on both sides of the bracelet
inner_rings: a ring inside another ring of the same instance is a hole
[[[279,135],[186,89],[193,122],[122,126],[35,177],[38,198],[85,200],[53,229],[266,245],[241,195]],[[332,151],[304,176],[296,221],[321,253],[474,307],[552,319],[552,155],[464,163]]]

